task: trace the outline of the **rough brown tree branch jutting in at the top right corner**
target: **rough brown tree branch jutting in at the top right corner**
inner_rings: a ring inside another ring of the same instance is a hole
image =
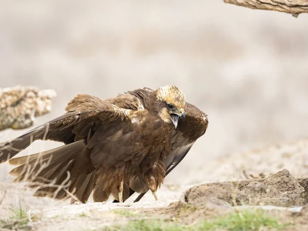
[[[275,10],[292,14],[308,13],[308,0],[222,0],[225,3],[260,10]]]

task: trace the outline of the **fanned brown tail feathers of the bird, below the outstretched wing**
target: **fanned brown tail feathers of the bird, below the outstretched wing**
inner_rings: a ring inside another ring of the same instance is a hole
[[[30,182],[27,186],[36,188],[33,196],[61,200],[70,192],[85,203],[94,188],[94,167],[83,140],[14,158],[9,163],[20,165],[10,174],[16,177],[14,182]]]

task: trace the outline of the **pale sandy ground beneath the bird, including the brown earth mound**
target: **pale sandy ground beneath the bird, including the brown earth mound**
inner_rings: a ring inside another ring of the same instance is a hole
[[[155,201],[148,193],[138,203],[132,203],[130,199],[123,204],[75,203],[53,207],[52,202],[47,199],[29,199],[30,191],[22,189],[16,191],[16,186],[12,184],[6,185],[6,192],[8,195],[12,195],[13,192],[18,194],[22,202],[30,208],[30,213],[40,217],[38,221],[29,224],[33,230],[54,230],[54,228],[92,230],[105,225],[124,224],[136,217],[167,219],[175,217],[179,222],[191,224],[234,211],[232,207],[234,205],[284,206],[284,209],[269,207],[270,214],[292,222],[293,228],[300,230],[308,227],[308,223],[302,221],[302,217],[306,216],[305,210],[298,213],[301,207],[295,207],[294,210],[288,207],[302,206],[306,203],[306,197],[303,196],[308,191],[308,181],[303,177],[307,176],[305,166],[307,152],[308,140],[301,139],[220,158],[206,164],[203,169],[197,169],[200,175],[195,178],[195,182],[190,183],[189,189],[187,189],[189,184],[185,182],[165,184],[158,191],[159,201]],[[253,179],[260,178],[260,174],[267,179]],[[242,180],[231,182],[238,179]],[[201,181],[215,183],[196,186]],[[12,206],[8,198],[5,196],[2,201],[2,214]],[[37,202],[31,205],[29,201]],[[186,212],[187,204],[198,209]],[[126,212],[123,213],[123,209],[128,211],[129,216],[125,215]],[[117,213],[119,210],[120,215]]]

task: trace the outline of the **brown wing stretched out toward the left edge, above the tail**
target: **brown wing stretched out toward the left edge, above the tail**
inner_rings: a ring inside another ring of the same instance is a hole
[[[128,120],[127,110],[97,97],[79,94],[65,108],[68,112],[38,126],[21,137],[0,144],[0,163],[27,148],[35,140],[53,140],[65,144],[85,139],[101,123]]]

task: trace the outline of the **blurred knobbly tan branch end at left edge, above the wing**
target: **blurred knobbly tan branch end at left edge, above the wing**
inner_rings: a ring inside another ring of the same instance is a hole
[[[0,88],[0,130],[23,129],[34,124],[34,117],[51,110],[54,90],[38,90],[35,87]]]

